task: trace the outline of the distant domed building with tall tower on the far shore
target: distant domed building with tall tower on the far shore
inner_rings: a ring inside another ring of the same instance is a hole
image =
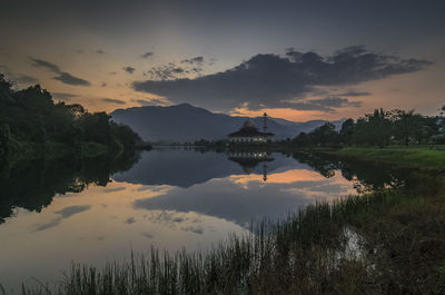
[[[271,132],[266,132],[267,130],[267,114],[265,112],[263,115],[264,118],[264,126],[263,126],[263,132],[257,129],[255,124],[250,120],[247,119],[241,129],[239,129],[236,132],[229,134],[229,141],[230,142],[245,142],[245,144],[261,144],[261,142],[267,142],[274,137],[274,134]]]

